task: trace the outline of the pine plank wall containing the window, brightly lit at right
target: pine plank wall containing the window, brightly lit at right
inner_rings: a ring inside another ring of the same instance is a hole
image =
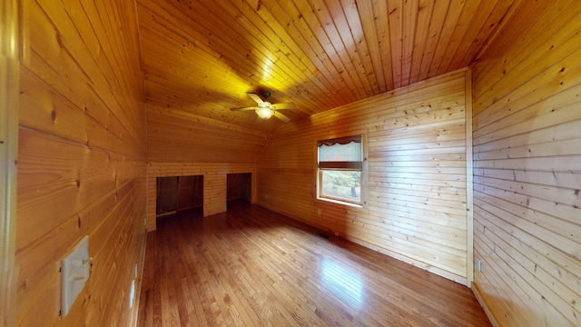
[[[466,284],[468,73],[281,127],[258,163],[258,203]],[[316,200],[316,141],[359,133],[368,140],[368,207]]]

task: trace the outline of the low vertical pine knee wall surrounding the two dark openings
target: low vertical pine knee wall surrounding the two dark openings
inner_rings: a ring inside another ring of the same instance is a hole
[[[256,203],[256,163],[149,163],[147,230],[154,231],[157,177],[203,175],[203,216],[226,211],[229,173],[251,173],[251,203]]]

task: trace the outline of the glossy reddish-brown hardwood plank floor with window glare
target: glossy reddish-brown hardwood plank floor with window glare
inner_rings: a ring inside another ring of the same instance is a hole
[[[244,202],[148,234],[139,326],[490,326],[456,282]]]

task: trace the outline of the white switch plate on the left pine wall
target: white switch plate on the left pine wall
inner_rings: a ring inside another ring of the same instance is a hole
[[[83,291],[89,279],[92,260],[89,256],[89,236],[84,236],[61,261],[61,316],[66,316],[76,297]]]

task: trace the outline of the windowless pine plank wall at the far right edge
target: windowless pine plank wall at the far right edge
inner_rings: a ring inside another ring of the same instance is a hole
[[[475,284],[499,325],[581,326],[581,3],[523,5],[474,65]]]

